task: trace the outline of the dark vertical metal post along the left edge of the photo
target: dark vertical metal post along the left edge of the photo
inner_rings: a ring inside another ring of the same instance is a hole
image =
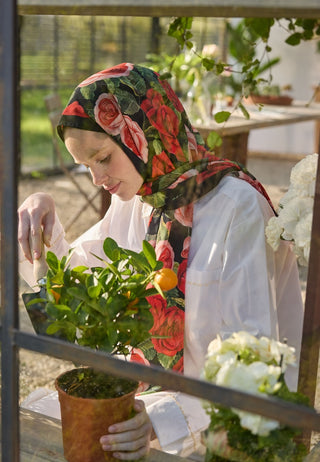
[[[0,205],[2,462],[19,461],[18,328],[18,17],[15,0],[0,0]]]

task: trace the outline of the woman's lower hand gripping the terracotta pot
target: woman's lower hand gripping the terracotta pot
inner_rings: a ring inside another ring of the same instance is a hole
[[[102,449],[117,459],[139,459],[149,453],[153,429],[144,402],[135,400],[134,410],[132,419],[111,425],[109,434],[100,438]]]

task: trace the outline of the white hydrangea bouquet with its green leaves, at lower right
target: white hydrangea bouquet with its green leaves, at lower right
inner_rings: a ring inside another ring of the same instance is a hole
[[[284,379],[288,365],[295,364],[294,348],[267,337],[260,339],[237,332],[209,347],[203,379],[223,387],[257,395],[273,395],[307,404],[305,396],[291,392]],[[204,433],[205,462],[263,461],[299,462],[306,448],[293,438],[297,430],[239,409],[203,403],[210,416]]]

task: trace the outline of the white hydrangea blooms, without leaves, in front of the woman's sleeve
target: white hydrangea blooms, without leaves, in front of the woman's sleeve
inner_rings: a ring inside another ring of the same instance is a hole
[[[272,395],[281,386],[279,379],[287,365],[294,365],[295,361],[295,350],[287,344],[240,331],[225,340],[217,336],[209,344],[202,378],[222,387]],[[203,405],[210,408],[208,402]],[[253,434],[267,436],[279,426],[277,421],[232,410],[239,416],[242,427]]]

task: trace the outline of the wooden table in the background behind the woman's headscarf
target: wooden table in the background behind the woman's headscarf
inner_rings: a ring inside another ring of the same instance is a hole
[[[232,113],[224,124],[217,124],[212,120],[208,124],[195,125],[205,140],[213,130],[222,136],[222,146],[215,150],[218,156],[228,157],[244,165],[247,162],[248,138],[251,130],[320,120],[319,103],[307,105],[303,101],[294,101],[290,106],[264,105],[260,111],[255,105],[248,104],[245,107],[250,114],[250,119],[246,119],[239,109],[232,112],[232,108],[224,108],[223,110]],[[315,151],[320,152],[320,139],[317,144]]]

